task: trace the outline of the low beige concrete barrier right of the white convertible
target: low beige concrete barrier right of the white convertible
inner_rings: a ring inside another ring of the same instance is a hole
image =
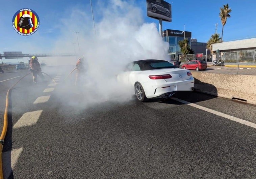
[[[256,75],[191,71],[195,90],[256,105]]]

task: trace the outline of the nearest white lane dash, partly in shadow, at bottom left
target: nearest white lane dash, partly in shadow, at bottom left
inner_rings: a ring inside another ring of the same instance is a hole
[[[23,148],[12,149],[2,153],[3,177],[8,178],[14,169]]]

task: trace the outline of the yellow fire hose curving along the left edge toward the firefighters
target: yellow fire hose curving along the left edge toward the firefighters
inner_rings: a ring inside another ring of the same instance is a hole
[[[74,71],[74,70],[72,70]],[[32,72],[31,72],[32,73]],[[24,77],[28,76],[29,74],[31,73],[28,73],[26,74]],[[44,73],[44,72],[42,72]],[[48,77],[50,77],[47,73],[44,73],[46,74]],[[2,130],[2,133],[1,133],[1,136],[0,136],[0,179],[3,179],[3,167],[2,167],[2,150],[3,150],[3,144],[4,144],[4,138],[5,138],[5,135],[6,135],[6,132],[7,132],[7,125],[8,125],[8,107],[9,107],[9,92],[10,90],[19,82],[21,81],[24,77],[22,77],[20,80],[18,80],[15,84],[13,84],[7,91],[7,94],[6,94],[6,105],[5,105],[5,111],[4,111],[4,123],[3,123],[3,130]],[[51,77],[50,77],[51,78]],[[57,84],[53,78],[51,78],[53,80],[53,82],[55,84]]]

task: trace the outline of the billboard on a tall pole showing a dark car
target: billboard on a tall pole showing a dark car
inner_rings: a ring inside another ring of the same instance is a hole
[[[172,6],[163,0],[146,0],[147,16],[172,22]]]

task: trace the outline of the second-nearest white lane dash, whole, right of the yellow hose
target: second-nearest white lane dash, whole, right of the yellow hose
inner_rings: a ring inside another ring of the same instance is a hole
[[[43,110],[24,113],[21,118],[14,124],[13,128],[34,125],[39,119]]]

